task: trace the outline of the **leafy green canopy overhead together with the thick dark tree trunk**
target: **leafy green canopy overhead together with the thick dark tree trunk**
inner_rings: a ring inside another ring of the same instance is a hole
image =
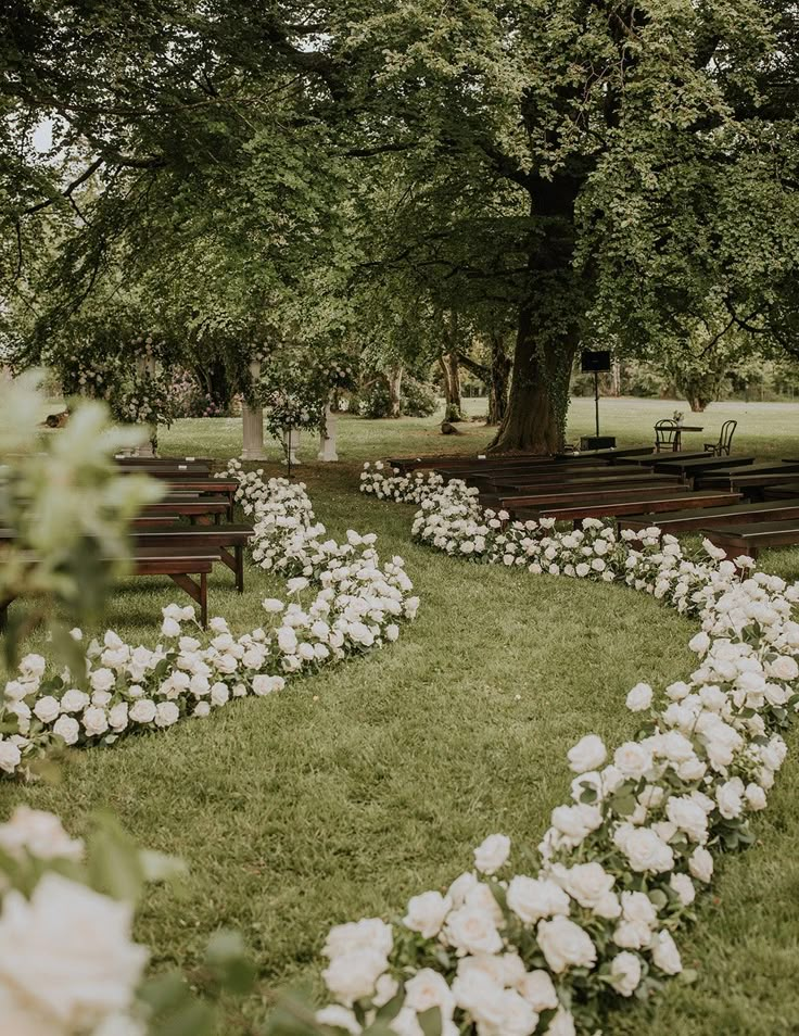
[[[390,352],[435,354],[457,313],[515,328],[495,446],[544,451],[581,345],[657,355],[702,325],[797,352],[792,4],[12,0],[2,20],[0,262],[33,353],[121,294],[233,353],[359,350],[382,325]]]

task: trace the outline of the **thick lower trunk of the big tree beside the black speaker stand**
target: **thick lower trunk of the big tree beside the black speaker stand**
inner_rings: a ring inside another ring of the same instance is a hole
[[[513,356],[513,377],[505,419],[490,453],[557,453],[563,448],[569,380],[576,340],[543,343],[528,307],[522,308]]]

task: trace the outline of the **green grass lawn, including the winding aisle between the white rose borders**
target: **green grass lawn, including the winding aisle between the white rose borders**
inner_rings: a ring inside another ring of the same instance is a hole
[[[624,442],[644,441],[674,408],[603,404],[608,431]],[[592,407],[575,402],[570,437],[589,430]],[[733,410],[746,433],[741,448],[799,454],[799,407],[714,404],[703,417],[708,430]],[[191,966],[215,928],[236,925],[254,950],[264,1000],[299,978],[318,984],[331,924],[396,915],[408,896],[468,867],[471,848],[494,831],[511,835],[521,860],[568,795],[567,749],[588,731],[617,743],[634,725],[626,691],[638,680],[662,685],[690,667],[692,624],[655,601],[619,586],[470,567],[410,543],[413,507],[357,493],[364,459],[485,444],[485,428],[461,427],[462,435],[444,440],[435,418],[344,417],[342,463],[301,469],[332,532],[375,531],[383,556],[406,558],[422,607],[397,644],[210,720],[76,753],[56,786],[0,785],[3,812],[28,801],[79,832],[93,811],[111,808],[140,843],[187,860],[186,894],[155,890],[140,917],[138,935],[156,966]],[[220,458],[240,445],[236,420],[179,421],[162,439],[164,453]],[[305,437],[301,456],[315,454]],[[797,578],[798,553],[768,554],[764,565]],[[212,581],[212,614],[237,630],[255,626],[262,596],[278,588],[252,569],[243,597],[230,582]],[[138,580],[115,596],[105,624],[152,643],[158,609],[175,597],[166,582]],[[607,1033],[799,1032],[792,756],[757,827],[761,843],[724,861],[700,924],[682,943],[686,964],[699,970],[696,985],[672,983],[651,1014],[619,1014]],[[246,1011],[257,1016],[261,999]],[[230,1019],[225,1036],[237,1032]]]

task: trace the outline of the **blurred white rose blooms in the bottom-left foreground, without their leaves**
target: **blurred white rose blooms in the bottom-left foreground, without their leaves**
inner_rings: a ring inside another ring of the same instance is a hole
[[[84,855],[52,813],[20,806],[0,850],[36,874],[29,895],[0,892],[0,1027],[9,1036],[143,1036],[136,990],[148,951],[132,907],[73,881]]]

